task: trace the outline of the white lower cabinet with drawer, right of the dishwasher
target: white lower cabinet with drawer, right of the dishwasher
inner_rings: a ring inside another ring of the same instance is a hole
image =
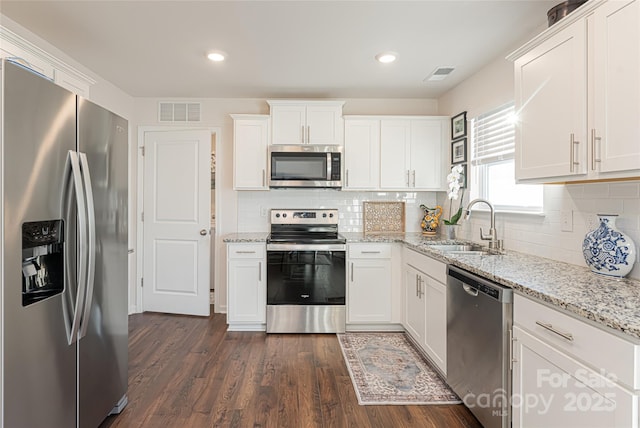
[[[512,426],[637,428],[638,391],[627,386],[640,370],[637,351],[637,344],[516,295]]]

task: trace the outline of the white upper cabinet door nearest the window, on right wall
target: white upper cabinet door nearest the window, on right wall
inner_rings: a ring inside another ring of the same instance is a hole
[[[586,173],[585,28],[575,22],[515,62],[519,180]]]

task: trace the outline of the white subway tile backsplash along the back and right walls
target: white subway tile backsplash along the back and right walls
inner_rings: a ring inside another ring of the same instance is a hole
[[[267,232],[269,217],[260,211],[266,208],[338,208],[341,232],[362,232],[362,203],[365,201],[404,201],[407,232],[420,231],[420,204],[433,207],[438,203],[449,217],[449,201],[444,192],[347,192],[314,189],[272,190],[269,192],[238,192],[238,231]],[[457,209],[458,201],[454,203]],[[498,237],[505,248],[585,265],[582,256],[584,235],[598,225],[597,213],[619,214],[618,227],[635,242],[640,250],[640,182],[587,183],[548,185],[544,189],[544,216],[496,213]],[[573,230],[561,231],[563,211],[573,211]],[[480,227],[489,231],[488,212],[475,212],[460,225],[459,237],[486,244],[480,240]],[[640,257],[640,256],[639,256]],[[640,279],[640,262],[629,274]]]

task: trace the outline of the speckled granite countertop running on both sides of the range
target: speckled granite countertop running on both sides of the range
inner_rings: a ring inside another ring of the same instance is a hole
[[[267,235],[240,233],[225,236],[223,240],[265,242]],[[497,255],[447,254],[430,246],[462,241],[443,241],[420,233],[343,235],[348,243],[403,243],[408,248],[511,287],[520,294],[610,327],[635,341],[640,340],[640,281],[598,275],[586,266],[509,250]]]

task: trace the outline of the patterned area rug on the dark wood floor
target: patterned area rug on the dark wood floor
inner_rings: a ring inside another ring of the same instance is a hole
[[[345,333],[338,340],[361,405],[461,403],[404,333]]]

